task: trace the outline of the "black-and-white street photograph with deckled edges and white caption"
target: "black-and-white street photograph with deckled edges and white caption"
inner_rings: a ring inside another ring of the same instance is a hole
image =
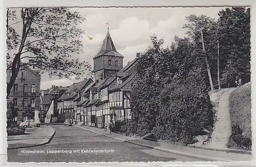
[[[250,7],[5,10],[8,162],[251,160]]]

